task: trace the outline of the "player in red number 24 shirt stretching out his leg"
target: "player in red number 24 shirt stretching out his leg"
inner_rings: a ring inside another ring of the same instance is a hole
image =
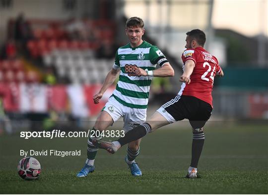
[[[223,76],[215,56],[206,51],[203,46],[205,34],[199,29],[186,33],[187,48],[182,54],[183,82],[178,95],[162,105],[151,118],[133,130],[125,137],[115,142],[95,141],[94,145],[115,153],[121,146],[137,140],[148,133],[176,121],[188,119],[193,128],[192,160],[187,178],[197,178],[198,161],[204,144],[203,127],[212,111],[212,96],[214,76]]]

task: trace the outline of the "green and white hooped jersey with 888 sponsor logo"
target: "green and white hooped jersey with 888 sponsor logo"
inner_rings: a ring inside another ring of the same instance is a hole
[[[119,81],[113,97],[125,106],[147,108],[151,76],[135,76],[134,67],[154,70],[156,64],[162,66],[168,60],[156,46],[143,41],[132,48],[130,44],[120,47],[116,52],[114,69],[121,69]]]

